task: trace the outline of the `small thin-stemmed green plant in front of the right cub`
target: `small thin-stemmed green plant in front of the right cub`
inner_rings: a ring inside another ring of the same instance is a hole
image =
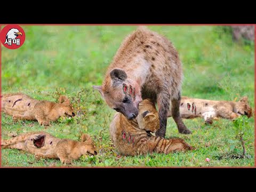
[[[239,116],[238,118],[235,119],[235,121],[233,122],[235,129],[236,129],[236,139],[238,139],[243,147],[243,154],[242,154],[242,158],[245,157],[245,153],[246,153],[246,149],[244,146],[244,139],[243,139],[243,135],[244,135],[244,131],[246,130],[249,121],[248,121],[248,117],[245,115]]]

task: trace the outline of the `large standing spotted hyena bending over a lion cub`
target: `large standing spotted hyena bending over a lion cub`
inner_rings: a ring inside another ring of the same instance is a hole
[[[94,86],[94,89],[100,91],[109,107],[129,119],[138,115],[138,103],[142,99],[150,98],[156,102],[160,121],[156,135],[164,137],[170,100],[179,132],[191,133],[179,113],[181,82],[181,62],[172,43],[154,31],[139,27],[119,47],[103,85]],[[123,83],[135,88],[134,101],[124,102]]]

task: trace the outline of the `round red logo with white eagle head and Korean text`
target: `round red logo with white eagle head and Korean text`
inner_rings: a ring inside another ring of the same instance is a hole
[[[25,31],[18,25],[7,25],[0,31],[0,40],[8,49],[18,49],[25,42]]]

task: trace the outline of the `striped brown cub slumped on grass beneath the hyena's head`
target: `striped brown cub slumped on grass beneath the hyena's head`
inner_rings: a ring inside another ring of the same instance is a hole
[[[183,139],[164,139],[149,132],[159,129],[159,118],[154,103],[145,99],[139,104],[139,115],[133,120],[116,113],[110,124],[110,138],[122,155],[169,154],[173,151],[193,149]]]

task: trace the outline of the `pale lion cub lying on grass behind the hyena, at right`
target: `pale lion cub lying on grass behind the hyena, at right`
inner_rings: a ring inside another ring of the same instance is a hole
[[[212,119],[217,117],[233,120],[240,115],[252,116],[252,108],[249,106],[247,97],[241,98],[238,102],[181,97],[181,118],[203,117],[206,123],[211,124]],[[169,111],[168,116],[171,116],[171,111]]]

